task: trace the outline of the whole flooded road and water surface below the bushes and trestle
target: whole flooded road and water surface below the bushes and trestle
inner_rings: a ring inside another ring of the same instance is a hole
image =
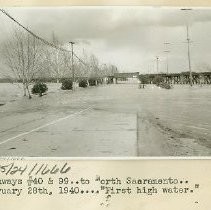
[[[42,98],[10,96],[0,107],[0,154],[210,156],[210,96],[210,86],[116,84],[72,92],[50,84]]]

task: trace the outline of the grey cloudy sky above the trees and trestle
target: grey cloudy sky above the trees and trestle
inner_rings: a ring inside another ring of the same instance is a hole
[[[54,32],[63,44],[76,41],[76,52],[94,53],[101,64],[110,63],[121,72],[188,70],[186,25],[191,38],[194,71],[211,66],[211,10],[181,11],[180,8],[69,7],[4,8],[39,36],[51,40]],[[0,14],[0,43],[10,37],[14,23]],[[169,42],[168,46],[164,42]],[[168,48],[168,49],[167,49]]]

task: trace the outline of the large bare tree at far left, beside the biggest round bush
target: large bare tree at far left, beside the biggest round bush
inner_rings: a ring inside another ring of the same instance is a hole
[[[40,71],[40,48],[38,40],[30,34],[14,31],[12,39],[3,46],[5,64],[12,76],[22,83],[24,96],[31,98],[29,85]]]

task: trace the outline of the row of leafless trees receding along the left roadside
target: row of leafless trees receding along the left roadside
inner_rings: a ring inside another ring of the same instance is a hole
[[[53,34],[52,43],[61,46]],[[60,82],[72,77],[71,53],[46,45],[24,31],[15,30],[11,38],[1,46],[4,62],[8,67],[7,77],[21,82],[24,96],[31,98],[30,84],[37,79],[53,79]],[[114,65],[101,65],[97,57],[83,51],[74,58],[75,78],[100,78],[117,72]]]

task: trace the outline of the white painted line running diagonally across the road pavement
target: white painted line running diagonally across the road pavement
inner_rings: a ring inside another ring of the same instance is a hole
[[[67,115],[66,117],[62,117],[62,118],[59,118],[59,119],[57,119],[57,120],[54,120],[54,121],[52,121],[52,122],[50,122],[50,123],[44,124],[44,125],[39,126],[39,127],[37,127],[37,128],[34,128],[34,129],[30,130],[30,131],[27,131],[27,132],[18,134],[17,136],[14,136],[14,137],[12,137],[12,138],[9,138],[9,139],[6,139],[6,140],[0,142],[0,145],[5,144],[5,143],[7,143],[7,142],[9,142],[9,141],[12,141],[12,140],[14,140],[14,139],[17,139],[17,138],[19,138],[19,137],[21,137],[21,136],[25,136],[25,135],[27,135],[27,134],[33,133],[33,132],[38,131],[38,130],[40,130],[40,129],[42,129],[42,128],[48,127],[48,126],[50,126],[50,125],[55,125],[55,124],[58,123],[58,122],[61,122],[61,121],[66,120],[66,119],[68,119],[68,118],[71,118],[71,117],[73,117],[73,116],[75,116],[75,115],[81,114],[81,113],[83,113],[83,112],[85,112],[85,111],[87,111],[87,110],[90,110],[91,108],[92,108],[92,106],[90,106],[90,107],[88,107],[88,108],[86,108],[86,109],[83,109],[83,110],[81,110],[81,111],[79,111],[79,112],[75,112],[75,113],[73,113],[73,114]]]

